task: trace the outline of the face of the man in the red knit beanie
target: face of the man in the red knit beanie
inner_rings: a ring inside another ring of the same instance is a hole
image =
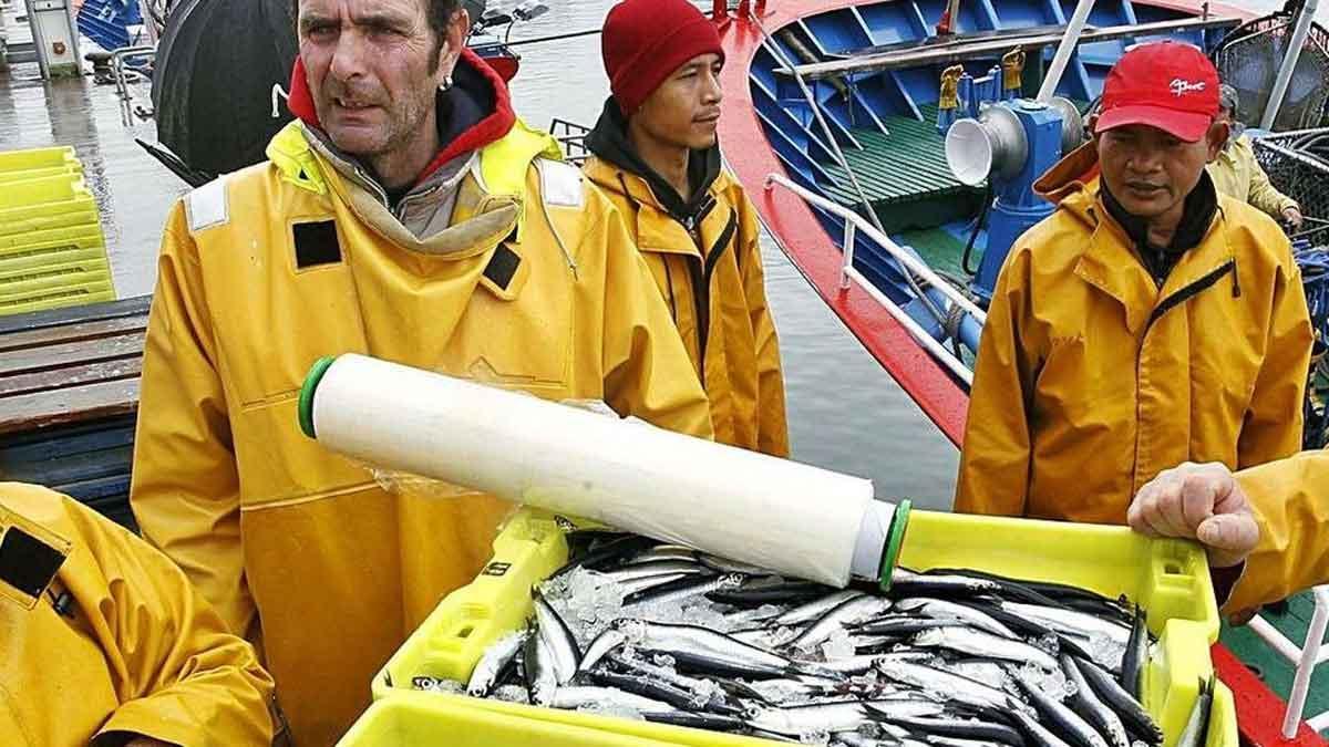
[[[633,113],[657,140],[690,149],[715,145],[720,121],[720,56],[698,54],[674,70]]]

